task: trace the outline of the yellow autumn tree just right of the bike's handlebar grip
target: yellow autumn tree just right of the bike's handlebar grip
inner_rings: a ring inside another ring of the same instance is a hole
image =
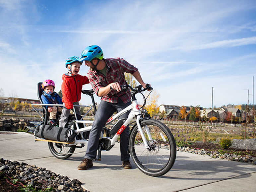
[[[160,97],[159,93],[155,90],[148,96],[147,104],[145,108],[151,117],[153,117],[154,115],[157,115],[159,112],[159,107],[157,106],[159,97]]]

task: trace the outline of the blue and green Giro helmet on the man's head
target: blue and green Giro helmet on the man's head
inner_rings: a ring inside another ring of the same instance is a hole
[[[98,58],[103,59],[103,52],[98,45],[91,45],[86,47],[79,58],[79,61],[92,61],[92,59]]]

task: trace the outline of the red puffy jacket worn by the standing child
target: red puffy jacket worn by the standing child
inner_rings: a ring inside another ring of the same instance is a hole
[[[66,74],[62,75],[62,101],[65,103],[67,109],[73,108],[73,103],[80,101],[82,87],[85,84],[89,83],[89,80],[86,76],[75,75],[68,76]]]

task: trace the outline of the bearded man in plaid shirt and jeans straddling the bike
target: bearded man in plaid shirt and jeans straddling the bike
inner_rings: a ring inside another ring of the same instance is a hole
[[[131,73],[144,88],[146,88],[146,84],[136,67],[122,58],[103,58],[103,52],[97,45],[86,47],[81,53],[79,61],[85,61],[85,65],[90,67],[87,75],[89,82],[96,95],[101,97],[90,132],[85,159],[78,166],[79,170],[86,170],[93,166],[92,159],[96,158],[100,132],[108,118],[115,111],[119,112],[131,104],[130,92],[128,90],[120,92],[120,86],[127,85],[124,72]],[[128,114],[129,112],[119,118],[127,118]],[[125,129],[120,135],[120,152],[122,166],[131,169],[128,140],[129,128]]]

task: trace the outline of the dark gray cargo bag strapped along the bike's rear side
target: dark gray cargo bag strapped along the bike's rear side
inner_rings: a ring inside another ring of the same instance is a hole
[[[75,134],[73,130],[65,127],[55,127],[53,125],[37,125],[35,132],[36,137],[53,141],[73,142]]]

